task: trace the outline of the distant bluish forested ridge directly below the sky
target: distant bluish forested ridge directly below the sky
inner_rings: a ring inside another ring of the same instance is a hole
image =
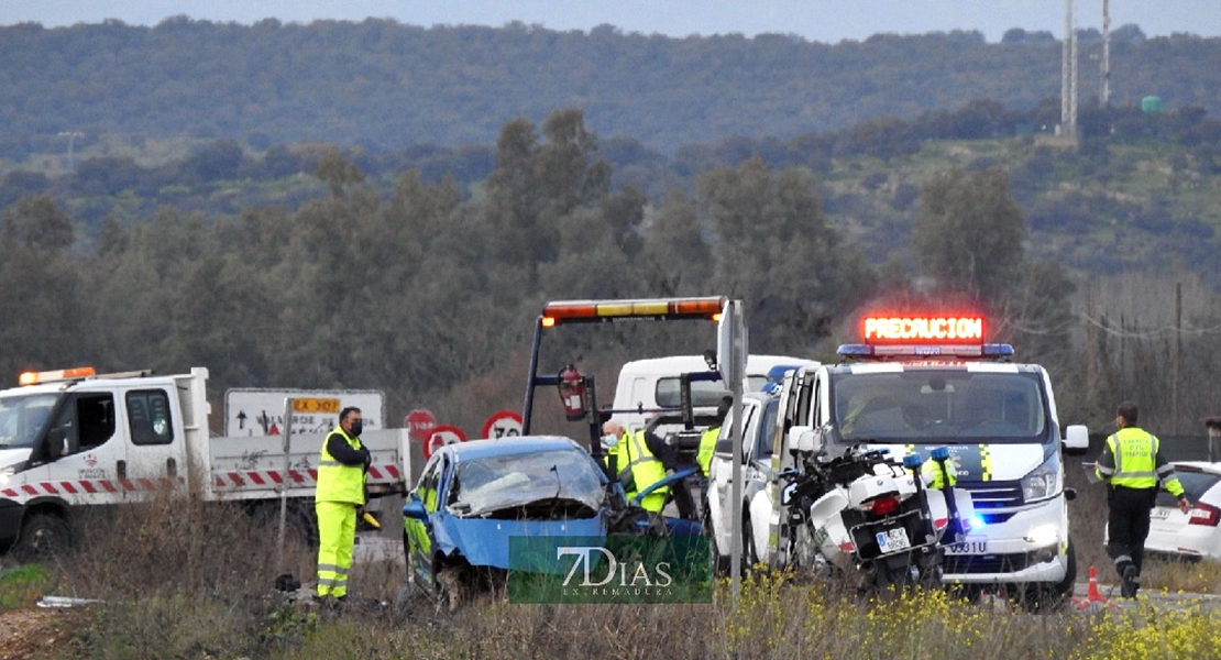
[[[1101,84],[1092,74],[1101,41],[1082,30],[1079,44],[1088,100]],[[1147,39],[1123,26],[1111,46],[1116,105],[1158,95],[1167,109],[1221,115],[1221,39]],[[12,160],[61,150],[62,132],[83,133],[83,145],[118,134],[232,138],[259,150],[313,140],[370,151],[453,148],[493,142],[507,118],[541,123],[564,107],[582,109],[607,138],[668,154],[728,137],[789,139],[910,120],[972,99],[1029,110],[1059,96],[1061,48],[1049,33],[1021,29],[1000,43],[950,32],[823,44],[785,34],[675,39],[610,26],[586,33],[178,17],[153,28],[4,27],[0,62],[0,157]]]

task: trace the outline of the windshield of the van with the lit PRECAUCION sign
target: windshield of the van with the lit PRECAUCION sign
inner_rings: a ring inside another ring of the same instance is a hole
[[[849,442],[1042,442],[1048,415],[1034,373],[907,368],[840,373],[834,420]]]

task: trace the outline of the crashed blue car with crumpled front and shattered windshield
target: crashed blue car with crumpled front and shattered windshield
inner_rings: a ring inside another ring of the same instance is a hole
[[[451,609],[470,594],[501,592],[510,537],[604,537],[621,510],[615,495],[617,486],[569,438],[443,447],[403,506],[408,576]]]

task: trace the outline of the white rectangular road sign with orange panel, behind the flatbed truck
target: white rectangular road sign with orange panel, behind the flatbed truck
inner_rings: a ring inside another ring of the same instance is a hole
[[[386,427],[386,396],[375,389],[255,389],[225,393],[225,434],[280,436],[284,429],[284,399],[292,398],[293,433],[326,433],[339,423],[339,411],[360,409],[366,431]]]

